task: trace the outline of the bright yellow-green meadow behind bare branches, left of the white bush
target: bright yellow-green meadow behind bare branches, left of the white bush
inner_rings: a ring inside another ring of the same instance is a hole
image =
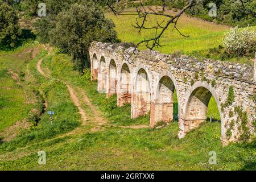
[[[150,38],[155,35],[155,31],[143,30],[141,35],[138,34],[138,30],[132,27],[135,24],[137,15],[127,16],[115,16],[112,13],[106,14],[107,18],[113,20],[118,32],[118,38],[122,42],[138,43],[144,38]],[[166,22],[167,18],[160,16],[151,16],[145,24],[146,27],[154,26],[154,23]],[[174,51],[183,51],[184,53],[192,53],[193,51],[200,51],[209,48],[218,47],[223,38],[224,32],[229,30],[227,26],[221,26],[213,23],[208,23],[203,20],[191,19],[187,16],[181,16],[177,27],[184,35],[188,35],[189,38],[180,36],[179,32],[172,31],[172,28],[168,28],[162,39],[160,40],[164,47],[160,47],[156,50],[163,53],[172,53]],[[140,47],[145,49],[144,46]]]

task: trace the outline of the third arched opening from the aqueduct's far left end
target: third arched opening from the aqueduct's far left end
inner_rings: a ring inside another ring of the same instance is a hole
[[[112,96],[117,93],[117,65],[112,59],[109,64],[109,84],[108,84],[108,93],[107,97]]]

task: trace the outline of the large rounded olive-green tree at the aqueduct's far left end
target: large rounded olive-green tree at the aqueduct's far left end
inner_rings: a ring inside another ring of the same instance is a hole
[[[93,41],[115,42],[114,23],[91,2],[71,5],[56,16],[56,27],[49,32],[50,42],[73,57],[76,69],[89,67],[88,48]]]

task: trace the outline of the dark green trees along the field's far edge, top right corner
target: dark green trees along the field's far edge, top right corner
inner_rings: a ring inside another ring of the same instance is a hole
[[[217,17],[210,17],[208,15],[210,2],[217,5]],[[185,4],[187,4],[185,0],[174,0],[167,3],[168,6],[175,9],[182,9]],[[256,2],[253,0],[244,1],[243,5],[245,5],[246,10],[239,1],[203,0],[197,1],[196,5],[187,10],[186,13],[209,22],[224,23],[230,26],[246,27],[248,24],[255,26],[255,17],[249,11],[253,12],[256,9]]]

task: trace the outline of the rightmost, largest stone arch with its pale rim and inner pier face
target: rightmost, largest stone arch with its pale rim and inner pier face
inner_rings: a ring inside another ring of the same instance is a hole
[[[224,137],[224,117],[216,90],[206,81],[197,81],[189,90],[185,99],[185,111],[179,117],[179,138],[183,138],[188,131],[195,129],[200,123],[207,120],[208,104],[214,97],[221,117],[221,136]]]

